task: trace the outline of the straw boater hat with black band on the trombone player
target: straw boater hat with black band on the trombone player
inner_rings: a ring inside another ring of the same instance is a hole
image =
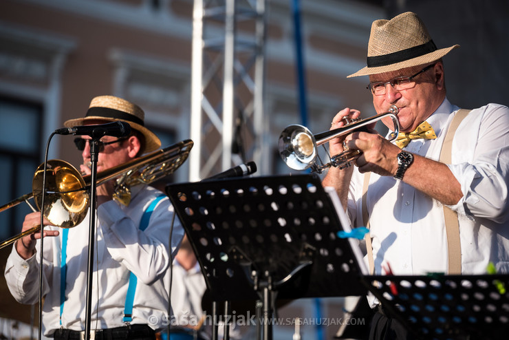
[[[144,136],[142,153],[147,153],[159,149],[161,141],[158,136],[144,127],[144,118],[144,111],[136,104],[114,96],[98,96],[92,99],[84,118],[69,119],[64,123],[64,126],[87,125],[90,120],[105,120],[107,122],[122,120],[122,122],[129,123],[131,129],[139,131]]]

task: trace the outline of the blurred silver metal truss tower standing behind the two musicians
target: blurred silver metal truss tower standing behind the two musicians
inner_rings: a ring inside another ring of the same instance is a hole
[[[268,154],[262,150],[265,9],[266,0],[194,1],[191,181],[250,160],[261,164]]]

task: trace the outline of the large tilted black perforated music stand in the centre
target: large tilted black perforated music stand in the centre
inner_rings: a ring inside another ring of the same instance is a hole
[[[166,193],[214,301],[261,299],[267,319],[276,293],[279,299],[367,293],[362,255],[338,237],[342,223],[316,176],[170,184]],[[270,326],[263,329],[272,339]]]

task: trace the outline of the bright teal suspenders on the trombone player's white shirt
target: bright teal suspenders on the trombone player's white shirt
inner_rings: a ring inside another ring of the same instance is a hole
[[[155,200],[151,202],[147,211],[145,211],[142,215],[142,219],[140,221],[140,230],[144,231],[149,226],[150,216],[152,215],[155,206],[158,205],[158,202],[162,200],[165,195],[160,195]],[[62,257],[61,257],[61,273],[60,273],[60,325],[62,326],[62,313],[63,313],[63,305],[65,302],[65,279],[67,277],[67,235],[69,234],[69,229],[63,229],[62,232]],[[124,322],[131,322],[132,313],[133,313],[133,302],[134,302],[134,292],[136,291],[136,283],[138,279],[136,275],[131,273],[129,277],[129,287],[127,288],[127,296],[125,297],[125,307],[124,307]]]

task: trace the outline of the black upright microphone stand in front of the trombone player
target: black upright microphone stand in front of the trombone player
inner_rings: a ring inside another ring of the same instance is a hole
[[[89,240],[88,240],[88,264],[87,264],[87,304],[85,306],[85,340],[90,339],[90,318],[92,304],[92,284],[94,282],[94,242],[96,235],[96,181],[97,181],[97,160],[99,154],[98,141],[102,136],[92,137],[90,141],[90,222],[89,222]]]

